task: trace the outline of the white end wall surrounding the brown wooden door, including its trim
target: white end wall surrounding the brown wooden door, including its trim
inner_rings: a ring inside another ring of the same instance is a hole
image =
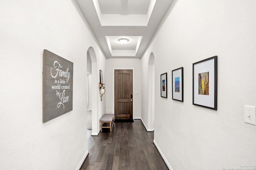
[[[113,108],[113,68],[134,68],[134,113],[133,117],[141,117],[141,61],[140,59],[107,59],[106,61],[106,113],[114,113]],[[104,78],[103,78],[104,80]]]

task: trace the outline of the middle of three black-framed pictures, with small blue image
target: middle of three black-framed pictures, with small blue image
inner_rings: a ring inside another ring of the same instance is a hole
[[[172,100],[183,102],[183,67],[172,70]]]

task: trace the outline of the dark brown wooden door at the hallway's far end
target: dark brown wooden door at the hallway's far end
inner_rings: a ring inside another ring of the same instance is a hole
[[[115,119],[132,119],[132,70],[115,70]]]

